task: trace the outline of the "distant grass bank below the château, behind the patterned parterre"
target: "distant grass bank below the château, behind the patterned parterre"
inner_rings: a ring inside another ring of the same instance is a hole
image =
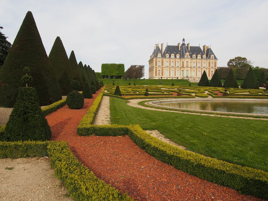
[[[129,80],[124,79],[99,79],[99,81],[103,81],[103,84],[105,85],[112,85],[113,80],[115,85],[128,85]],[[189,86],[188,80],[158,80],[158,79],[131,79],[131,85],[134,84],[134,81],[136,85],[163,85],[163,86],[171,86],[172,82],[175,84],[175,86]],[[159,82],[162,82],[160,84]]]

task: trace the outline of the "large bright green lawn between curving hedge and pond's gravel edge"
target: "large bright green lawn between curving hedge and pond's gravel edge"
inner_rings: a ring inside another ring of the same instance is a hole
[[[112,124],[158,130],[188,150],[268,171],[267,121],[152,111],[127,102],[110,98]]]

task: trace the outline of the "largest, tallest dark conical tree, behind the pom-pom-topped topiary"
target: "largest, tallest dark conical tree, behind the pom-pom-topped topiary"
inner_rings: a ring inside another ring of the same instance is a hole
[[[14,106],[19,88],[24,86],[21,80],[24,67],[30,68],[33,82],[29,83],[29,87],[36,89],[40,105],[61,100],[59,83],[30,11],[27,12],[0,71],[0,106]]]

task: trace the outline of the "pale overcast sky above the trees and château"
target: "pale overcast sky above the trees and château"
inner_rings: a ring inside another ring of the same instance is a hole
[[[0,26],[13,43],[32,11],[49,55],[57,36],[68,57],[101,72],[102,63],[144,65],[155,44],[211,46],[218,66],[237,56],[268,68],[268,1],[41,1],[1,0]]]

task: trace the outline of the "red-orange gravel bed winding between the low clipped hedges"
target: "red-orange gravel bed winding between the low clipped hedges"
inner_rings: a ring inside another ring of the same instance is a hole
[[[76,157],[106,183],[136,200],[261,200],[162,163],[129,136],[78,136],[76,127],[98,94],[85,99],[82,109],[65,105],[46,118],[52,140],[67,141]]]

